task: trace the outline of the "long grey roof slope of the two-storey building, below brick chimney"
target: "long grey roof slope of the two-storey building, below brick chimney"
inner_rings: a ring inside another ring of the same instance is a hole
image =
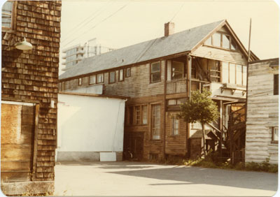
[[[59,80],[110,68],[137,64],[141,61],[166,57],[171,54],[189,52],[190,50],[193,50],[202,39],[206,38],[224,22],[225,20],[221,20],[210,24],[204,24],[170,36],[156,38],[151,41],[138,43],[126,48],[120,48],[118,50],[83,59],[75,66],[67,69],[65,73],[59,75]]]

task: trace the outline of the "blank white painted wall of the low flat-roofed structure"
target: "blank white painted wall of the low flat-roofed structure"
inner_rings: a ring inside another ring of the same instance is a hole
[[[58,94],[57,152],[123,152],[125,101]]]

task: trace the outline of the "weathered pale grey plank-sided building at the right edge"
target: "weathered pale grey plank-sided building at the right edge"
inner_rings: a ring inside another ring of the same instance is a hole
[[[245,161],[278,163],[279,58],[248,66]]]

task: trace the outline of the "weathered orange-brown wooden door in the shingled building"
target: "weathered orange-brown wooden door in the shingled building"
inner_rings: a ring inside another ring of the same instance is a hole
[[[31,180],[34,106],[1,104],[1,182]]]

